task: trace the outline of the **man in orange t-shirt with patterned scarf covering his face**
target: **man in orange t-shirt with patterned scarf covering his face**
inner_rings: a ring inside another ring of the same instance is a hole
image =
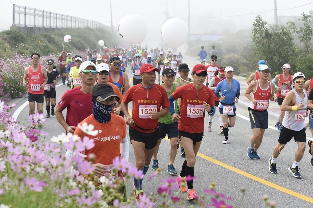
[[[99,66],[99,65],[98,65]],[[112,161],[115,157],[125,158],[128,162],[129,143],[126,138],[126,122],[120,116],[116,116],[111,111],[115,102],[119,100],[112,87],[109,84],[98,84],[92,88],[92,114],[80,122],[80,126],[84,123],[93,125],[94,130],[98,131],[96,136],[84,133],[80,128],[76,128],[74,135],[83,139],[88,136],[95,141],[95,146],[84,152],[85,155],[93,153],[95,161],[95,177],[100,179],[105,172],[110,174],[110,180],[123,180],[122,172],[111,172]],[[105,129],[105,131],[103,131]],[[114,138],[114,139],[110,139]],[[65,157],[73,156],[74,151],[67,150]],[[98,180],[100,181],[100,180]],[[123,182],[122,182],[123,183]],[[101,184],[101,182],[100,182]],[[123,193],[124,201],[127,200],[126,187],[122,184],[121,193]]]

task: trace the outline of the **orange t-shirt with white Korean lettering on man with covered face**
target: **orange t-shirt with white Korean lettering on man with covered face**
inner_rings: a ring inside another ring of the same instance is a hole
[[[86,122],[88,125],[95,126],[94,130],[98,130],[99,133],[96,136],[86,135],[79,127],[74,131],[74,135],[84,138],[88,136],[95,141],[95,146],[87,150],[85,155],[93,153],[96,156],[94,163],[101,163],[105,165],[106,170],[110,171],[112,167],[112,161],[116,156],[121,155],[120,143],[123,138],[126,137],[126,121],[123,117],[111,114],[111,121],[109,123],[99,123],[95,120],[93,114],[85,118],[80,122],[80,126]],[[121,176],[119,171],[118,176]],[[116,179],[117,176],[112,176],[112,179]]]

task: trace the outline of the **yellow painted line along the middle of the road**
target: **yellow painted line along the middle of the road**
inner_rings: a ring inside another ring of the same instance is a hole
[[[131,77],[131,79],[130,79],[129,82],[131,82],[131,80],[132,80],[132,77]],[[131,111],[131,109],[129,109],[129,115],[131,115],[131,113],[132,113],[132,111]],[[167,141],[170,141],[170,140],[167,138],[167,136],[166,136],[165,139],[166,139]],[[200,152],[198,152],[197,156],[203,158],[204,160],[207,160],[207,161],[209,161],[209,162],[212,162],[212,163],[214,163],[214,164],[216,164],[216,165],[218,165],[218,166],[221,166],[221,167],[223,167],[223,168],[226,168],[226,169],[228,169],[228,170],[230,170],[230,171],[233,171],[233,172],[235,172],[235,173],[238,173],[238,174],[240,174],[240,175],[242,175],[242,176],[245,176],[245,177],[247,177],[247,178],[250,178],[250,179],[252,179],[252,180],[254,180],[254,181],[257,181],[257,182],[259,182],[259,183],[262,183],[262,184],[264,184],[264,185],[266,185],[266,186],[269,186],[269,187],[271,187],[271,188],[274,188],[274,189],[276,189],[276,190],[278,190],[278,191],[284,192],[284,193],[289,194],[289,195],[291,195],[291,196],[295,196],[295,197],[297,197],[297,198],[299,198],[299,199],[302,199],[302,200],[304,200],[304,201],[313,203],[313,199],[310,198],[310,197],[308,197],[308,196],[305,196],[305,195],[303,195],[303,194],[299,194],[299,193],[297,193],[297,192],[295,192],[295,191],[291,191],[291,190],[286,189],[286,188],[284,188],[284,187],[282,187],[282,186],[279,186],[279,185],[277,185],[277,184],[275,184],[275,183],[266,181],[266,180],[263,179],[263,178],[254,176],[254,175],[252,175],[252,174],[250,174],[250,173],[247,173],[247,172],[245,172],[245,171],[242,171],[242,170],[240,170],[240,169],[238,169],[238,168],[235,168],[235,167],[233,167],[233,166],[227,165],[226,163],[223,163],[223,162],[221,162],[221,161],[215,160],[215,159],[213,159],[212,157],[209,157],[209,156],[207,156],[207,155],[204,155],[204,154],[202,154],[202,153],[200,153]]]

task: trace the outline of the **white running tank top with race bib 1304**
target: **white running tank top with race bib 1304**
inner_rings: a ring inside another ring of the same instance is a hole
[[[304,120],[306,114],[306,104],[308,102],[308,96],[306,91],[303,90],[304,98],[301,98],[295,89],[290,90],[295,93],[295,106],[302,102],[304,109],[299,111],[286,111],[282,125],[293,131],[300,131],[304,128]]]

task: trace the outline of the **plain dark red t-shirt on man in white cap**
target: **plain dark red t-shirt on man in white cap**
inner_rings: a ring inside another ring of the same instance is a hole
[[[66,123],[69,126],[77,126],[77,124],[92,114],[92,94],[81,92],[80,87],[64,92],[59,101],[59,106],[62,110],[67,108]]]

